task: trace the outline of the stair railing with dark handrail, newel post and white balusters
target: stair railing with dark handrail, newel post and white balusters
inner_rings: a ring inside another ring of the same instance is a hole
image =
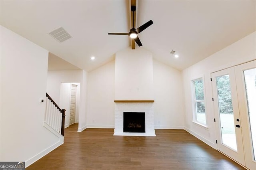
[[[55,130],[62,136],[64,136],[64,124],[65,124],[65,109],[60,107],[52,100],[52,98],[46,93],[46,112],[44,117],[44,123],[51,129]]]

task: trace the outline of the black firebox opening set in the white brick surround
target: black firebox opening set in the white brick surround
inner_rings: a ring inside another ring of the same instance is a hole
[[[124,132],[145,133],[145,112],[124,112]]]

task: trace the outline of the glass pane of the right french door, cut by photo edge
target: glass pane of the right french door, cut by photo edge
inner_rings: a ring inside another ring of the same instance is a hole
[[[256,154],[256,68],[244,71],[254,160]]]

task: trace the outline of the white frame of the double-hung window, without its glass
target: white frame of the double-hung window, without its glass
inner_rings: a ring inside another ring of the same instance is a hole
[[[195,81],[198,81],[198,80],[202,80],[204,100],[196,100]],[[192,108],[193,108],[193,120],[192,120],[192,122],[195,123],[196,125],[200,125],[200,126],[208,129],[207,114],[206,114],[206,97],[205,97],[206,95],[205,95],[204,76],[200,76],[200,77],[192,79],[191,83],[192,83]],[[205,124],[197,120],[197,115],[196,115],[197,114],[197,107],[196,107],[197,102],[204,102]]]

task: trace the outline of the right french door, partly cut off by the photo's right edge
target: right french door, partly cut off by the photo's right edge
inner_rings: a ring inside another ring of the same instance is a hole
[[[235,67],[245,165],[256,170],[256,60]]]

